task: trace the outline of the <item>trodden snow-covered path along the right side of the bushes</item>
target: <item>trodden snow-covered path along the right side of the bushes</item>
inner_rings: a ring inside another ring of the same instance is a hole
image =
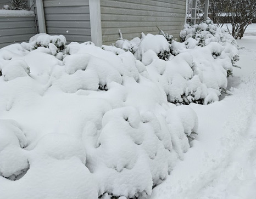
[[[242,70],[231,79],[233,95],[191,105],[199,118],[198,140],[151,199],[256,198],[256,36],[237,42],[245,48],[237,63]]]

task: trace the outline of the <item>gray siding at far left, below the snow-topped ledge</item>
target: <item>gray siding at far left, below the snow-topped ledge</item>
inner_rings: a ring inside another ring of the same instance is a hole
[[[0,16],[0,48],[29,41],[36,34],[34,16]]]

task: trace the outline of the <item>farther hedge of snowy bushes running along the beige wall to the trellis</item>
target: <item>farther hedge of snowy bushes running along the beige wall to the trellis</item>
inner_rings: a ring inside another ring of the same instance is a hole
[[[172,40],[161,30],[160,35],[142,33],[141,39],[136,38],[137,42],[119,39],[115,47],[103,49],[117,54],[133,52],[171,103],[218,101],[239,59],[235,39],[209,19],[193,26],[186,25],[180,36],[182,42]]]

